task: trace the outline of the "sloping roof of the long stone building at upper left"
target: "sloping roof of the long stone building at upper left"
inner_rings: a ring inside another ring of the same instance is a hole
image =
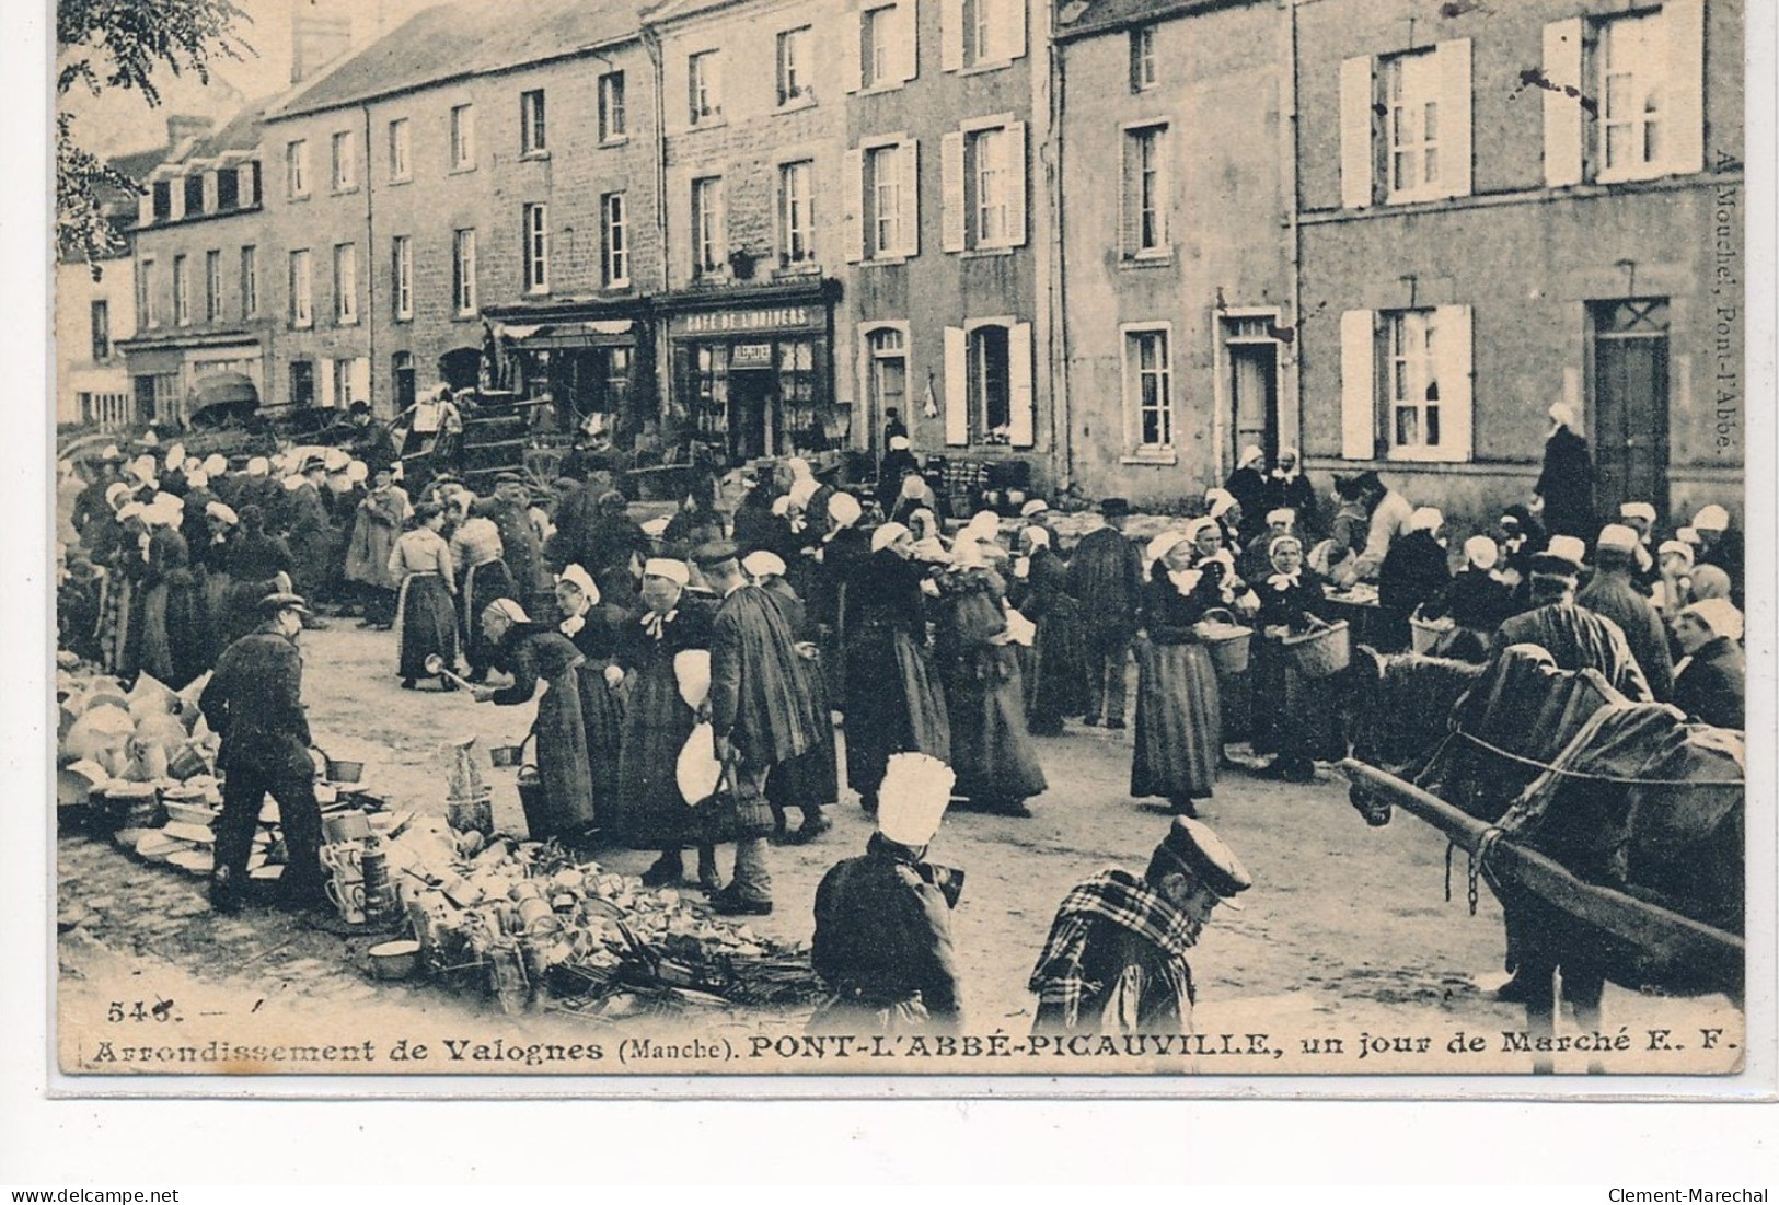
[[[562,59],[637,34],[639,0],[455,0],[324,71],[270,117],[295,117]]]

